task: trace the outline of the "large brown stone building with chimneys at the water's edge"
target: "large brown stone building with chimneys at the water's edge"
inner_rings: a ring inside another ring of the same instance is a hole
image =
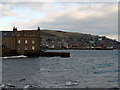
[[[19,54],[40,52],[40,28],[37,30],[2,31],[2,48],[15,51]]]

